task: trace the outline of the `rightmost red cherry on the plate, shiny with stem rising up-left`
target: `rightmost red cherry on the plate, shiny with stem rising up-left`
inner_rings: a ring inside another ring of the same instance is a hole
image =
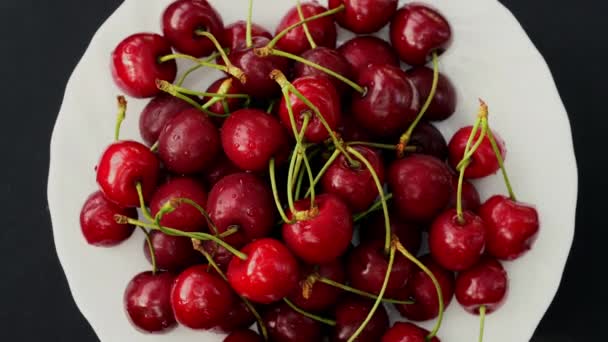
[[[538,212],[528,204],[502,195],[490,197],[479,208],[486,224],[486,252],[503,260],[526,253],[539,230]]]

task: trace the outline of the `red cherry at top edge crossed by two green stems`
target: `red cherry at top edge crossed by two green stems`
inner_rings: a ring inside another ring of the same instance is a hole
[[[304,18],[310,18],[317,14],[321,14],[327,11],[327,8],[319,5],[316,2],[303,3],[301,5],[302,14]],[[300,14],[298,13],[297,7],[292,7],[281,19],[279,26],[275,30],[275,34],[279,34],[289,26],[297,24],[301,21]],[[324,17],[307,23],[308,31],[314,42],[319,46],[326,46],[329,48],[336,47],[336,24],[333,18]],[[302,26],[297,27],[287,33],[283,38],[279,39],[276,45],[277,49],[283,50],[294,55],[300,55],[306,50],[310,49],[310,43],[304,33]]]

